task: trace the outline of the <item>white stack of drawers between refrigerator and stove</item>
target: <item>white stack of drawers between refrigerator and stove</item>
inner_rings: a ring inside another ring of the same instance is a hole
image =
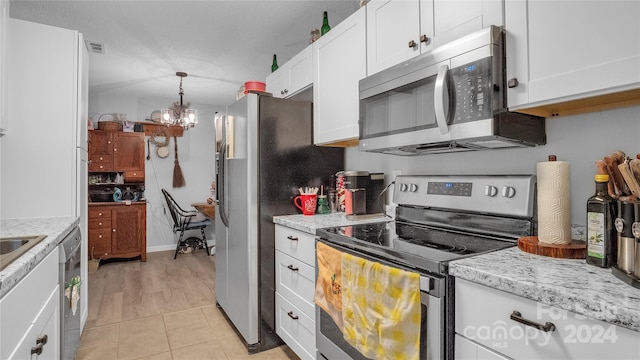
[[[275,236],[276,333],[301,359],[315,359],[315,237],[282,225]]]

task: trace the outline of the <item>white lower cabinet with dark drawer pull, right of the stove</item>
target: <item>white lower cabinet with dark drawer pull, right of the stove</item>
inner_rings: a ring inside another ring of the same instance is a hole
[[[456,359],[640,359],[636,331],[463,279],[455,287]]]

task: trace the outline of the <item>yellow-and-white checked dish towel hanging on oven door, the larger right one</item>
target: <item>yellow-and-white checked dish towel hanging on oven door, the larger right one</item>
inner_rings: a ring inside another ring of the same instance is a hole
[[[372,359],[420,356],[420,276],[342,254],[345,340]]]

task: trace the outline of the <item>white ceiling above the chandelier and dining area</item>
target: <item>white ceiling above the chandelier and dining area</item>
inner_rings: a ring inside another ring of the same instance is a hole
[[[265,80],[273,54],[282,65],[308,46],[323,11],[335,26],[358,8],[358,0],[11,0],[9,10],[104,45],[89,54],[92,95],[177,99],[183,71],[185,102],[226,106],[245,81]]]

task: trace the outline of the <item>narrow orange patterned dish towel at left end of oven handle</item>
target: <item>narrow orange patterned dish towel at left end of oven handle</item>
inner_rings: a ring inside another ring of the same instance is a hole
[[[342,331],[342,252],[321,242],[316,243],[318,278],[315,302],[331,316]]]

